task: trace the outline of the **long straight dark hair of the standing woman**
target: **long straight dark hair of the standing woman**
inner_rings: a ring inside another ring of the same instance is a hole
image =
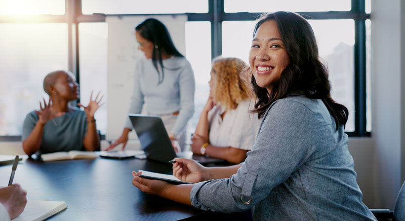
[[[159,82],[163,82],[164,72],[163,72],[163,62],[161,59],[161,53],[164,51],[169,56],[183,57],[173,44],[172,38],[170,37],[169,31],[166,26],[159,20],[150,18],[146,19],[139,25],[135,27],[136,31],[146,40],[153,43],[153,53],[152,53],[152,63],[155,67],[157,74],[159,76]],[[157,61],[160,64],[161,73],[157,67]]]

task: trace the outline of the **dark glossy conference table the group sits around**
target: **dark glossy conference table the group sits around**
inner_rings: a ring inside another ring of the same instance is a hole
[[[7,186],[12,165],[0,167]],[[196,209],[132,185],[132,171],[171,174],[169,164],[146,159],[74,159],[18,164],[13,183],[27,190],[28,200],[65,201],[67,209],[49,220],[199,220],[215,217],[244,220],[244,214],[223,214]],[[245,212],[246,215],[246,212]]]

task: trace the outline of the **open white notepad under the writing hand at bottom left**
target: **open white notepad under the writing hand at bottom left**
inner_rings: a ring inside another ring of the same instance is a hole
[[[66,208],[63,201],[28,200],[24,211],[13,221],[41,221]]]

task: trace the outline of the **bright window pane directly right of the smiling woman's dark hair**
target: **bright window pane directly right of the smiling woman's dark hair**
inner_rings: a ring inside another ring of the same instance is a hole
[[[332,98],[349,109],[346,132],[354,131],[354,21],[309,20],[319,57],[329,69]]]

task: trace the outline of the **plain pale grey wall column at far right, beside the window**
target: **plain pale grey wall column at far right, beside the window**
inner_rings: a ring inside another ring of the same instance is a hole
[[[377,208],[393,209],[403,182],[403,4],[401,0],[391,0],[389,3],[372,0],[371,5],[373,139],[376,157],[374,183]]]

